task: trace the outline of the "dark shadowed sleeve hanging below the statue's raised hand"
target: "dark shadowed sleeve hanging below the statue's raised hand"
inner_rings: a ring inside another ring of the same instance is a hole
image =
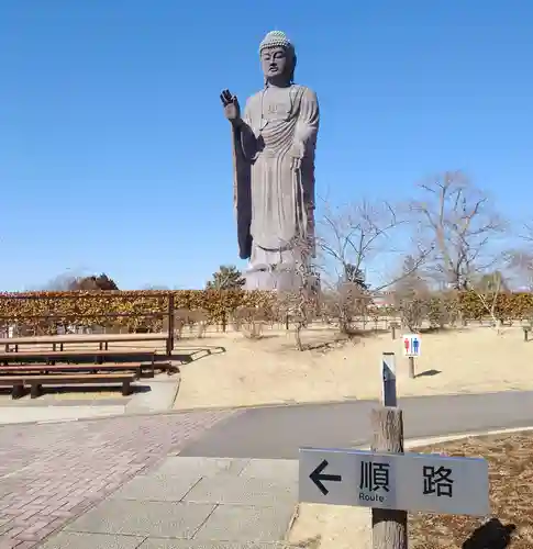
[[[240,127],[232,126],[233,205],[237,222],[238,257],[247,259],[252,255],[252,161],[256,153],[247,104],[243,122]]]

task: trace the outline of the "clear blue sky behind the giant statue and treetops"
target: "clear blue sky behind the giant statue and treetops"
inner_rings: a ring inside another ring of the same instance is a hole
[[[260,88],[274,29],[321,103],[319,194],[406,199],[464,169],[528,216],[532,25],[531,0],[1,0],[0,290],[242,266],[218,96]]]

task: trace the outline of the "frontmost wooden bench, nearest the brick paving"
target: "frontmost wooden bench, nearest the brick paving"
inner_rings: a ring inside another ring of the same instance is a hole
[[[122,394],[132,393],[134,373],[56,373],[52,376],[7,376],[0,377],[0,386],[11,386],[12,399],[20,399],[24,394],[24,386],[30,385],[30,395],[36,399],[43,385],[70,385],[70,384],[122,384]]]

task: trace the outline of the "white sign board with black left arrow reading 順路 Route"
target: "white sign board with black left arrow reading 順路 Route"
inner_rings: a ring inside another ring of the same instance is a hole
[[[489,514],[489,471],[481,458],[300,448],[299,498],[329,505]]]

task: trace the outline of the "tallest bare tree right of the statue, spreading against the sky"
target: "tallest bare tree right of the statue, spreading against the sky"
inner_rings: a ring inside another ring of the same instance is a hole
[[[422,232],[435,243],[432,266],[447,289],[466,290],[498,260],[491,238],[504,226],[488,197],[460,171],[446,171],[420,186],[411,204]]]

